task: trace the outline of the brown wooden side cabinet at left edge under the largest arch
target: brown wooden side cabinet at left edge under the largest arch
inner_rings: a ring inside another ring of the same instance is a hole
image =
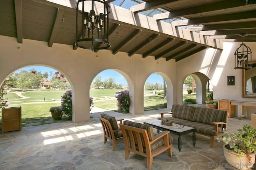
[[[2,133],[21,130],[21,107],[2,109]]]

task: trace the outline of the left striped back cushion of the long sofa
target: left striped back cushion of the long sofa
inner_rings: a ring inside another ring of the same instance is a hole
[[[196,107],[188,105],[172,105],[172,117],[192,121]]]

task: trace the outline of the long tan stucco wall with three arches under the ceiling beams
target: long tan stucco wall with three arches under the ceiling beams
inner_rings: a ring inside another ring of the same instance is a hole
[[[23,39],[23,43],[17,43],[16,38],[6,36],[0,36],[0,44],[0,83],[12,72],[30,65],[42,65],[60,71],[72,85],[72,120],[75,122],[90,119],[90,85],[94,77],[106,69],[114,69],[126,78],[132,96],[130,113],[144,113],[144,83],[148,76],[155,72],[160,73],[167,83],[167,107],[170,108],[176,103],[174,60],[155,60],[152,56],[143,59],[142,55],[137,54],[129,57],[128,53],[122,52],[112,55],[112,51],[109,50],[100,50],[98,53],[80,48],[73,50],[72,45],[58,43],[48,47],[47,42],[26,39]]]

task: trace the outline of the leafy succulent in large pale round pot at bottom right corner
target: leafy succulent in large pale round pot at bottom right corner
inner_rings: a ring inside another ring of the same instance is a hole
[[[241,170],[251,168],[255,162],[256,129],[246,124],[237,133],[230,133],[227,129],[223,129],[223,132],[224,136],[216,139],[225,143],[223,149],[226,161]]]

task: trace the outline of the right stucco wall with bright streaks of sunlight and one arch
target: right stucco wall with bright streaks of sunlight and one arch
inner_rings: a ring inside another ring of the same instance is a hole
[[[256,101],[256,98],[242,97],[242,70],[234,69],[234,51],[241,42],[224,42],[223,50],[205,49],[191,57],[177,62],[177,103],[182,102],[181,85],[184,79],[192,73],[200,72],[212,82],[214,99],[230,99],[238,101]],[[252,49],[252,61],[256,61],[256,43],[247,42]],[[235,85],[227,85],[227,76],[235,76]],[[247,107],[248,113],[256,113],[256,107]],[[250,117],[250,115],[249,115]]]

